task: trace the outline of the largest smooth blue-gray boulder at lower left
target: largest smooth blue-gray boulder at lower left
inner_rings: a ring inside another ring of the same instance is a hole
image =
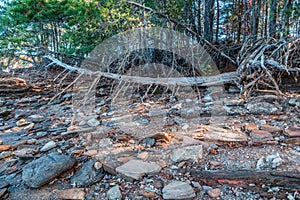
[[[27,164],[23,168],[22,180],[29,187],[38,188],[71,169],[74,164],[75,159],[69,156],[51,153]]]

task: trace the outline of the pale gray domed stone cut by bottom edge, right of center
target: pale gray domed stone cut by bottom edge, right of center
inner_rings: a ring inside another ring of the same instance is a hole
[[[173,181],[166,185],[163,190],[164,199],[192,199],[196,197],[192,186],[182,181]]]

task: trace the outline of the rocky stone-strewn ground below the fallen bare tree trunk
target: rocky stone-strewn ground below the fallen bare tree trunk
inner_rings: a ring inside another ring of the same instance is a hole
[[[58,74],[1,75],[1,199],[300,199],[299,91],[229,88],[195,109],[138,93],[116,106],[100,87],[95,115],[73,125],[71,88],[56,97],[72,79]]]

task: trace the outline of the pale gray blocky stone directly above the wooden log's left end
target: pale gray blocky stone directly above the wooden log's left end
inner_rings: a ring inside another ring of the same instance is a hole
[[[202,145],[186,146],[175,149],[170,158],[174,162],[190,161],[198,162],[203,157]]]

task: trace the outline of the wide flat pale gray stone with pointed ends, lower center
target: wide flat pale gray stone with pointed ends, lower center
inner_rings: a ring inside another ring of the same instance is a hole
[[[138,180],[146,174],[155,174],[161,167],[155,163],[148,163],[141,160],[130,160],[116,168],[116,172],[130,181]]]

